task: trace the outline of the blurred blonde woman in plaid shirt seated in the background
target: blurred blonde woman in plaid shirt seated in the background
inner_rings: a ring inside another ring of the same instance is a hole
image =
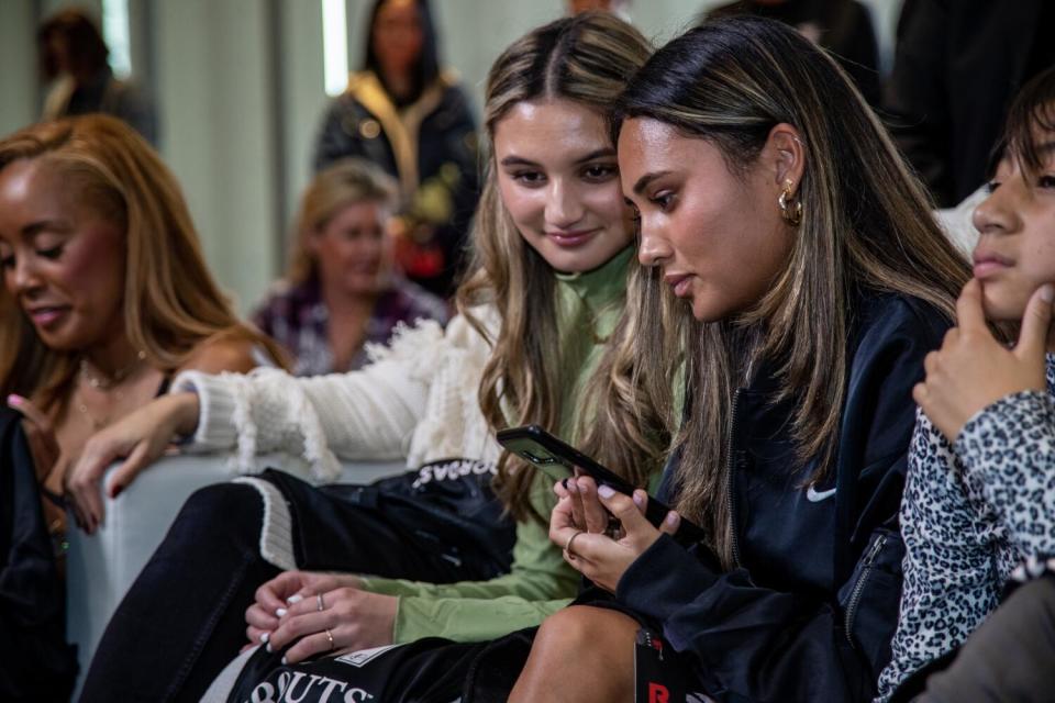
[[[396,182],[359,159],[326,168],[304,192],[289,271],[253,315],[298,376],[359,368],[364,345],[388,342],[400,322],[447,321],[443,300],[393,270],[397,197]]]

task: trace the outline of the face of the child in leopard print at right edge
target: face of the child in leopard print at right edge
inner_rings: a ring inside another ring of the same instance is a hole
[[[1055,282],[1055,134],[1037,138],[1043,164],[1030,176],[1004,157],[975,210],[981,235],[975,246],[975,278],[981,281],[986,316],[1022,319],[1037,288]]]

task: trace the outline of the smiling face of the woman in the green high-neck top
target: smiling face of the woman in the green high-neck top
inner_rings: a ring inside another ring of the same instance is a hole
[[[495,129],[498,187],[524,241],[558,271],[596,269],[630,245],[604,119],[569,100],[520,102]]]

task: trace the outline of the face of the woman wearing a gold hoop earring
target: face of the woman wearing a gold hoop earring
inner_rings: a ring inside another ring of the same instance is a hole
[[[641,217],[638,259],[663,268],[692,316],[722,320],[757,303],[785,267],[791,231],[777,199],[785,176],[773,136],[743,175],[701,138],[658,120],[626,120],[619,135],[623,192]]]

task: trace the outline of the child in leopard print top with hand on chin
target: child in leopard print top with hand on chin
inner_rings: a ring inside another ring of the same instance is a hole
[[[974,215],[980,238],[959,326],[913,392],[904,589],[879,700],[959,647],[1020,563],[1055,554],[1055,69],[1012,107],[989,190]],[[987,321],[1020,325],[1018,344],[996,339]],[[929,689],[925,700],[945,699]]]

